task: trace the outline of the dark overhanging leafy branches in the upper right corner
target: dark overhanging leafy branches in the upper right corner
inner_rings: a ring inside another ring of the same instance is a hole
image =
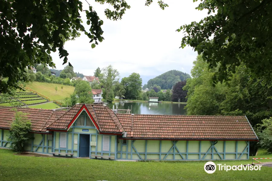
[[[204,0],[196,9],[217,13],[177,29],[186,33],[180,48],[189,45],[202,53],[211,69],[218,65],[216,79],[220,82],[228,81],[241,62],[251,77],[272,80],[272,43],[267,38],[272,37],[272,16],[265,13],[270,7],[271,1]]]

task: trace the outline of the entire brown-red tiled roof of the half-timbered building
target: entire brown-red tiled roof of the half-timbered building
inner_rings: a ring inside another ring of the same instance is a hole
[[[17,110],[28,113],[34,132],[45,132],[47,129],[69,129],[83,108],[99,132],[127,132],[127,138],[132,139],[258,139],[245,116],[115,114],[107,106],[97,104],[76,104],[68,111]],[[15,113],[11,109],[0,106],[0,128],[10,128]]]

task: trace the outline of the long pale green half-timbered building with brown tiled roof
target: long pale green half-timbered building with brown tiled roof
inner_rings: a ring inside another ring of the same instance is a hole
[[[112,160],[249,159],[258,138],[245,116],[115,114],[105,105],[76,104],[68,111],[17,108],[31,120],[25,150],[55,156]],[[0,147],[15,111],[0,106]]]

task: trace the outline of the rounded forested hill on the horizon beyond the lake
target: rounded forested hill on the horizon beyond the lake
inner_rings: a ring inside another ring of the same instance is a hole
[[[170,70],[150,79],[147,84],[144,84],[143,89],[153,87],[155,84],[159,85],[161,89],[171,89],[177,82],[184,81],[187,78],[190,78],[189,74],[178,70]]]

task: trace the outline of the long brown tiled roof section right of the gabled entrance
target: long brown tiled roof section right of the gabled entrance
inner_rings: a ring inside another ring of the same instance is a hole
[[[258,140],[245,116],[116,115],[127,138]]]

